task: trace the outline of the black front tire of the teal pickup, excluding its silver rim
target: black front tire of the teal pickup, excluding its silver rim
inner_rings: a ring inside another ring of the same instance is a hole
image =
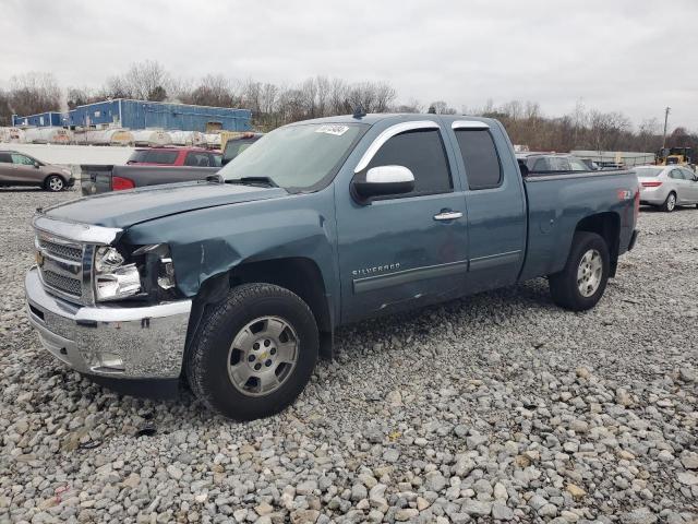
[[[297,360],[278,389],[263,396],[249,396],[231,382],[229,352],[236,335],[265,315],[281,318],[292,326],[298,335]],[[221,415],[236,420],[268,417],[290,405],[303,391],[318,348],[315,318],[300,297],[272,284],[244,284],[204,313],[188,354],[186,376],[194,394]]]

